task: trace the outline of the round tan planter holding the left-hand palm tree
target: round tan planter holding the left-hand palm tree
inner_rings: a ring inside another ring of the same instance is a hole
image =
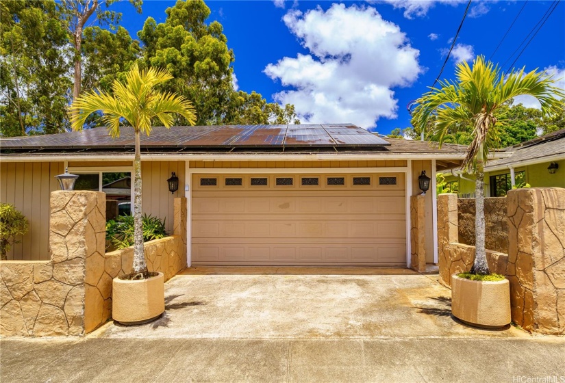
[[[163,273],[148,279],[112,282],[112,318],[123,324],[152,321],[165,311]]]

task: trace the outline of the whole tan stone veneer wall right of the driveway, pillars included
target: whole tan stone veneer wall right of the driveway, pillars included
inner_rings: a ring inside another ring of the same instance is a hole
[[[565,189],[507,194],[508,254],[487,250],[492,272],[510,280],[512,321],[525,330],[565,334]],[[475,247],[458,243],[457,195],[438,196],[440,282],[468,271]]]

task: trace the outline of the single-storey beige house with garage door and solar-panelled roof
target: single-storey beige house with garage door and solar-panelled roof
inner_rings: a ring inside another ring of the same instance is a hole
[[[173,199],[188,198],[188,265],[405,266],[423,170],[432,179],[426,260],[436,262],[435,173],[460,165],[466,150],[383,140],[351,124],[155,127],[141,147],[143,212],[172,231]],[[11,259],[49,259],[49,193],[66,167],[79,188],[131,189],[132,129],[116,139],[105,128],[3,138],[0,149],[1,201],[30,221]],[[102,185],[104,173],[121,179]]]

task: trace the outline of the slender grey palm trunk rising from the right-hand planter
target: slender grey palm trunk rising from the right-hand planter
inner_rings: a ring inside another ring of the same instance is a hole
[[[485,181],[484,161],[481,159],[477,159],[475,175],[475,262],[470,271],[473,274],[490,274],[485,250]]]

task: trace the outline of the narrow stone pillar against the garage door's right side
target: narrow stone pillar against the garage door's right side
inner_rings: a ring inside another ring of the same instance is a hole
[[[426,271],[426,233],[425,233],[425,200],[418,194],[410,197],[410,241],[412,257],[410,268],[416,272]]]

